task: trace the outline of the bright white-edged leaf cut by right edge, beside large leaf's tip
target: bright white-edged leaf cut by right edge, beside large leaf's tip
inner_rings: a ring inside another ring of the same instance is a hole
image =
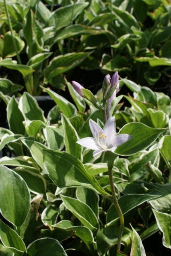
[[[171,160],[171,135],[165,135],[160,139],[159,148],[164,156]]]

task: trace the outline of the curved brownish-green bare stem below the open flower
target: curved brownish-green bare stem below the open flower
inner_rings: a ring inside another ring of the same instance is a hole
[[[111,166],[109,167],[109,165],[108,165],[108,171],[109,171],[109,181],[110,181],[110,186],[111,186],[111,194],[113,197],[113,203],[115,205],[115,208],[117,210],[117,213],[118,213],[119,219],[120,219],[120,227],[119,227],[119,233],[118,233],[118,237],[117,237],[117,249],[120,250],[122,233],[123,233],[123,229],[124,229],[124,215],[123,215],[122,210],[117,202],[115,187],[113,184],[113,171],[112,171],[112,167]]]

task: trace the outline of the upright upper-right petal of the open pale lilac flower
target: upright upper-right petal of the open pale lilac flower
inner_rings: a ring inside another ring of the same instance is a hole
[[[103,127],[103,133],[106,135],[106,145],[111,148],[113,140],[116,135],[116,123],[115,117],[109,117],[105,126]]]

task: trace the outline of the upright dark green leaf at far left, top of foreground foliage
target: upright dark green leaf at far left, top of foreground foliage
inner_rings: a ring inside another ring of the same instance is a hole
[[[7,108],[7,119],[10,130],[13,133],[25,134],[25,127],[23,125],[24,117],[21,111],[19,110],[18,102],[15,97],[12,96],[10,99]],[[17,119],[16,119],[17,117]]]

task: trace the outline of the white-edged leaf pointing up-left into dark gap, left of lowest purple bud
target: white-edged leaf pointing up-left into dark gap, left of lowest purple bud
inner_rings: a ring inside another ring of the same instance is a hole
[[[44,87],[41,88],[44,89],[52,97],[54,102],[66,117],[70,118],[76,114],[76,107],[64,97],[60,96],[56,92],[53,92],[52,90],[46,89]]]

